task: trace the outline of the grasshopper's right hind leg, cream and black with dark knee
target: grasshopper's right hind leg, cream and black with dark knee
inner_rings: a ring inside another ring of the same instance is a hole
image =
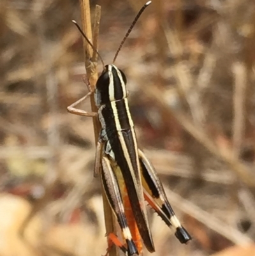
[[[182,227],[170,202],[168,202],[156,170],[140,149],[138,149],[138,155],[142,169],[142,184],[145,200],[147,200],[150,206],[161,216],[166,225],[174,229],[175,236],[179,239],[180,243],[187,243],[191,240],[191,236],[187,230]]]

